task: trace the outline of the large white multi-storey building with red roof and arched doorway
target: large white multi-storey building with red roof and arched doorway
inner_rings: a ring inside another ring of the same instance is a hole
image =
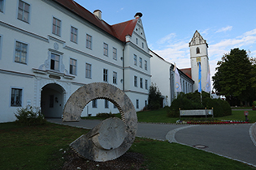
[[[119,87],[137,111],[150,86],[150,53],[141,13],[109,25],[73,0],[0,1],[0,122],[15,121],[17,108],[41,107],[62,117],[77,88],[106,82]],[[82,116],[119,113],[107,100],[93,100]]]

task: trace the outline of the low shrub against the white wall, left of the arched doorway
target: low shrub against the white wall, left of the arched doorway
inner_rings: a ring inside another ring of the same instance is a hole
[[[46,120],[41,113],[41,109],[37,107],[27,106],[26,108],[18,108],[15,113],[16,123],[20,125],[44,125]]]

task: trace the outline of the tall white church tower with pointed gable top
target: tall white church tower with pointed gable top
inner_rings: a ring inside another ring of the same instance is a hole
[[[194,81],[193,90],[198,90],[198,74],[199,62],[201,64],[201,85],[202,91],[206,91],[207,73],[210,70],[208,57],[208,44],[202,38],[199,32],[193,34],[192,40],[189,42],[190,62],[191,62],[191,77]]]

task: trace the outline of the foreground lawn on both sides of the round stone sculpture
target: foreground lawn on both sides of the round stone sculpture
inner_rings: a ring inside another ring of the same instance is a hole
[[[0,169],[60,169],[68,145],[87,132],[50,123],[30,127],[1,123]],[[255,169],[192,147],[146,138],[136,138],[129,151],[144,155],[149,169]]]

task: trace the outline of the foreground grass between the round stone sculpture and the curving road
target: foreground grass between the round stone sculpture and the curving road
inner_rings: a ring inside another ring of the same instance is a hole
[[[232,159],[177,143],[137,138],[129,151],[145,155],[150,169],[255,169]]]

